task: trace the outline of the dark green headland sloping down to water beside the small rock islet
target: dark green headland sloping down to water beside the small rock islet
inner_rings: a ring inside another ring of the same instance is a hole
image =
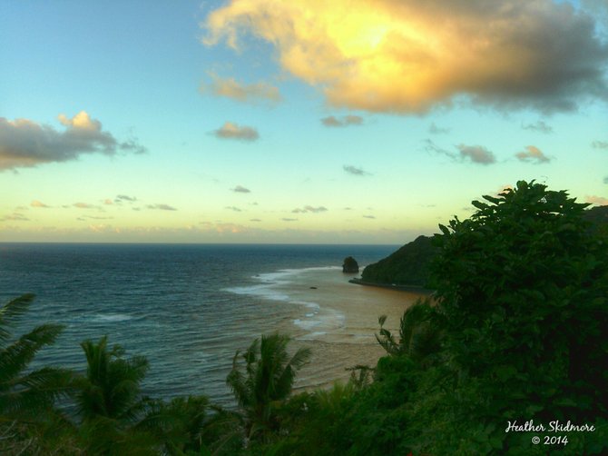
[[[368,265],[361,278],[368,283],[427,286],[429,265],[436,255],[431,239],[418,236],[387,258]]]

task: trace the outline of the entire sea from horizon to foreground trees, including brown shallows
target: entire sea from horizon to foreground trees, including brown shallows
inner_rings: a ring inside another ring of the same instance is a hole
[[[127,356],[148,358],[143,392],[169,399],[206,394],[233,406],[225,384],[232,358],[262,333],[285,332],[313,358],[298,388],[345,379],[374,362],[378,316],[394,317],[415,296],[348,283],[352,255],[374,263],[390,245],[217,245],[0,243],[0,301],[36,299],[21,334],[43,322],[64,324],[35,366],[83,372],[80,342],[107,334]],[[392,322],[397,325],[393,318]]]

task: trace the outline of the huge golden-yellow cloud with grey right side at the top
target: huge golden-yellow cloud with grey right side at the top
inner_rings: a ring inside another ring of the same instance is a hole
[[[201,27],[205,45],[273,45],[333,106],[423,113],[464,95],[554,112],[608,99],[594,21],[553,0],[230,0]]]

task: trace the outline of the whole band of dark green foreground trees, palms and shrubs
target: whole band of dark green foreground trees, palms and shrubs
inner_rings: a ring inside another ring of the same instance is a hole
[[[432,299],[404,312],[398,334],[380,316],[386,355],[329,390],[292,393],[309,351],[289,354],[280,334],[235,354],[234,410],[202,396],[142,396],[147,362],[108,348],[105,337],[83,342],[86,372],[28,370],[61,327],[13,340],[9,328],[34,297],[8,302],[0,444],[15,455],[605,454],[603,225],[589,220],[586,204],[534,181],[473,204],[469,219],[440,225],[428,245],[415,242],[433,252]],[[536,436],[560,440],[534,445]]]

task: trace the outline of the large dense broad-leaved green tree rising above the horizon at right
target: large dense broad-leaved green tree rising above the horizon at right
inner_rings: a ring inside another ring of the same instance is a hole
[[[479,441],[499,439],[505,451],[529,436],[496,423],[599,423],[608,412],[608,246],[589,230],[587,204],[534,181],[484,199],[473,202],[470,219],[440,225],[435,237],[437,309],[456,374],[451,396],[466,398],[445,409],[461,422],[444,423],[459,432],[451,451],[464,432],[476,434],[462,429],[466,421],[480,426]],[[467,410],[475,415],[463,421],[457,413]],[[574,438],[583,445],[601,437],[570,435],[569,450],[579,453]]]

